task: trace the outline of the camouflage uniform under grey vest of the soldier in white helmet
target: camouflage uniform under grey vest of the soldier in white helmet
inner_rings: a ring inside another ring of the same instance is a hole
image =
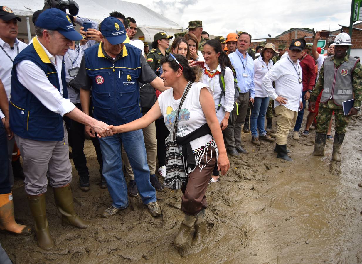
[[[329,59],[330,57],[326,58]],[[341,61],[336,61],[334,56],[331,58],[333,59],[333,63],[335,67],[338,67],[342,64],[343,61],[349,61],[349,55],[346,55],[344,59]],[[328,74],[334,74],[328,73]],[[319,93],[323,90],[323,82],[324,82],[324,65],[322,65],[319,78],[315,88],[311,94],[311,101],[315,102]],[[354,71],[352,73],[352,85],[353,85],[353,93],[354,93],[354,107],[358,108],[361,105],[362,101],[362,66],[357,62]],[[343,114],[342,106],[336,105],[333,100],[328,100],[327,103],[320,103],[319,110],[317,115],[317,133],[327,133],[329,121],[332,117],[332,112],[334,111],[334,121],[335,121],[335,130],[338,134],[345,134],[346,133],[346,126],[349,123],[349,116],[345,116]]]

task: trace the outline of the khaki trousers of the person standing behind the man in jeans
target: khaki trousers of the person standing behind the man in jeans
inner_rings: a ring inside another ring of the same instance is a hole
[[[148,127],[143,130],[144,145],[146,146],[147,164],[150,168],[150,174],[156,174],[156,158],[157,158],[157,139],[156,139],[156,125],[152,122]],[[127,158],[125,149],[122,146],[122,161],[125,165],[126,172],[130,175],[130,180],[134,180],[135,176],[132,171],[130,161]]]

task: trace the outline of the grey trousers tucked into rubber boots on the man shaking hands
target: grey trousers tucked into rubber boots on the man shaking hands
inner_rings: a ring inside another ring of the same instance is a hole
[[[38,141],[15,135],[23,157],[25,191],[28,195],[40,195],[50,185],[55,188],[72,181],[72,165],[69,160],[67,129],[64,124],[64,141]]]

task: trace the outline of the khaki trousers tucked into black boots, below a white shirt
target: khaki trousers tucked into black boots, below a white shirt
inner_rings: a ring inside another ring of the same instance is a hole
[[[278,145],[286,145],[289,131],[294,129],[298,112],[292,111],[283,105],[274,108],[277,114],[277,139]]]

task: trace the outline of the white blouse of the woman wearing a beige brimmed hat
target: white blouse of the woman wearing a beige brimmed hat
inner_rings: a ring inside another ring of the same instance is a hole
[[[273,67],[273,61],[269,60],[268,65],[266,65],[263,58],[258,57],[254,60],[254,89],[255,97],[265,98],[269,95],[266,93],[266,90],[262,87],[262,80],[266,73],[269,72],[270,68]]]

